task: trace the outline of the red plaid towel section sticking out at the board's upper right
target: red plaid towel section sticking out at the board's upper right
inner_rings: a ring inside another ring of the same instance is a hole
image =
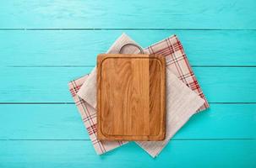
[[[193,74],[191,66],[189,66],[187,55],[183,50],[180,40],[177,39],[177,35],[150,45],[144,51],[150,54],[166,56],[166,68],[172,71],[183,83],[204,99],[205,103],[199,108],[199,111],[210,107],[199,86],[199,82]]]

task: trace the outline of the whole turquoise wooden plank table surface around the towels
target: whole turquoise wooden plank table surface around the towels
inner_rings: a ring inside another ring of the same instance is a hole
[[[256,1],[0,3],[0,167],[256,167]],[[123,32],[177,34],[210,102],[152,159],[134,143],[96,155],[67,83]]]

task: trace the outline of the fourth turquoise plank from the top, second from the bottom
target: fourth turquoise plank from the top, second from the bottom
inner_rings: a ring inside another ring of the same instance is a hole
[[[74,104],[2,104],[2,139],[89,139]],[[210,104],[173,139],[256,139],[256,104]]]

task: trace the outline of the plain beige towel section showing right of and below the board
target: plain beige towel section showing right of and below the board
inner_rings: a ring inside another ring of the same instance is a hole
[[[188,119],[204,104],[199,97],[187,87],[177,76],[166,68],[166,139],[163,141],[136,142],[152,157],[159,155]]]

